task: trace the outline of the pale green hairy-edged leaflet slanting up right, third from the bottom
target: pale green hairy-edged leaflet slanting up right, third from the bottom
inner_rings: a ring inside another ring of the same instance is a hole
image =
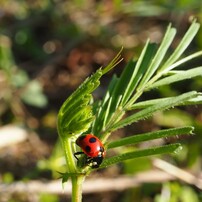
[[[119,128],[123,128],[127,125],[130,125],[138,120],[142,120],[145,119],[149,116],[151,116],[154,112],[159,111],[159,110],[166,110],[169,109],[171,107],[177,106],[191,98],[195,98],[197,97],[197,92],[192,91],[192,92],[188,92],[188,93],[184,93],[182,95],[176,96],[174,97],[172,100],[167,100],[166,102],[163,103],[159,103],[156,105],[152,105],[151,107],[148,107],[146,109],[143,109],[127,118],[125,118],[124,120],[121,120],[119,123],[113,125],[110,129],[110,131],[114,131],[116,129]]]

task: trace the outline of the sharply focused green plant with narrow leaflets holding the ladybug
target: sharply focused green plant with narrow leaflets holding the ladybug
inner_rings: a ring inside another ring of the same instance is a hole
[[[112,142],[108,140],[115,130],[144,120],[157,111],[202,102],[201,93],[196,91],[175,97],[138,100],[146,91],[202,76],[202,67],[176,70],[181,64],[202,55],[202,51],[199,51],[180,59],[199,27],[200,25],[193,21],[177,48],[170,56],[167,56],[166,53],[176,34],[176,29],[169,25],[160,46],[157,48],[148,40],[139,59],[129,61],[120,77],[113,76],[105,97],[94,102],[92,92],[99,86],[100,78],[122,60],[120,51],[107,67],[98,69],[63,103],[58,114],[58,133],[64,149],[67,172],[62,174],[62,178],[63,182],[68,178],[72,181],[72,201],[81,201],[82,183],[85,177],[95,170],[85,163],[85,155],[81,156],[78,162],[74,158],[74,153],[80,151],[75,142],[82,134],[96,135],[105,145],[107,153],[116,147],[157,138],[192,134],[193,127],[187,126],[133,135]],[[134,109],[136,110],[133,111]],[[125,116],[127,112],[131,112],[129,116]],[[106,157],[97,169],[128,159],[176,152],[180,148],[181,145],[175,143],[143,150],[134,149],[131,152]]]

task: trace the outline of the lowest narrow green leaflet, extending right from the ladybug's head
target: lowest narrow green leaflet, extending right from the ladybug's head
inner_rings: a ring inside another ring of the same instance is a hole
[[[110,165],[121,163],[122,161],[126,161],[129,159],[178,152],[181,148],[182,148],[181,144],[176,143],[176,144],[153,147],[153,148],[143,149],[143,150],[138,150],[133,152],[127,152],[124,154],[120,154],[120,155],[105,159],[103,163],[101,164],[100,168],[105,168]]]

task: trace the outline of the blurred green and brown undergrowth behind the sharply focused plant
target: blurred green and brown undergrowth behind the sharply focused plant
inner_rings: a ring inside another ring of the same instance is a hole
[[[137,58],[147,38],[160,43],[167,25],[177,28],[177,44],[190,20],[202,23],[200,0],[85,1],[85,0],[0,0],[0,141],[1,129],[17,126],[26,140],[0,146],[0,183],[58,179],[65,172],[56,131],[57,112],[63,101],[92,72],[108,62],[123,46],[124,62],[102,79],[94,97],[103,96],[113,73]],[[176,44],[173,44],[175,48]],[[187,54],[202,48],[202,29]],[[172,50],[171,50],[172,51]],[[183,68],[202,64],[195,59]],[[188,90],[202,91],[201,78],[160,88],[143,99],[172,96]],[[159,112],[154,117],[118,131],[114,137],[184,125],[195,127],[195,136],[180,141],[184,149],[164,158],[195,175],[201,173],[202,107],[189,106]],[[15,132],[14,132],[15,133]],[[13,133],[7,133],[13,139]],[[145,146],[145,145],[140,145]],[[121,151],[117,151],[121,152]],[[95,176],[104,178],[135,174],[152,169],[151,159],[128,161]],[[169,192],[169,200],[165,196]],[[84,195],[83,201],[199,202],[198,188],[178,180],[145,183],[110,194]],[[0,193],[0,201],[67,201],[65,196]]]

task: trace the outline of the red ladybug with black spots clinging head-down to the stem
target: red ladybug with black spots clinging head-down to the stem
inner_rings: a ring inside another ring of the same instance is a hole
[[[77,155],[86,154],[88,156],[86,163],[91,164],[92,168],[98,168],[105,157],[102,142],[93,134],[87,134],[78,137],[76,144],[83,152],[74,153],[75,158],[78,160]]]

